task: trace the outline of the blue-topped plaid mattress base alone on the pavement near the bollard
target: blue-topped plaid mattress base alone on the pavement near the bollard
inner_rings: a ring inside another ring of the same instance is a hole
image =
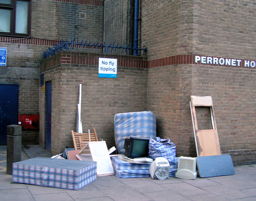
[[[33,158],[12,164],[12,181],[78,190],[97,178],[96,164],[91,161]]]

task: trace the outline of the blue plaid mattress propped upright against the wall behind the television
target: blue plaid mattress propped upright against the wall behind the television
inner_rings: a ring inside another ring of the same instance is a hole
[[[119,154],[124,154],[125,138],[156,139],[156,117],[151,111],[115,115],[115,141]]]

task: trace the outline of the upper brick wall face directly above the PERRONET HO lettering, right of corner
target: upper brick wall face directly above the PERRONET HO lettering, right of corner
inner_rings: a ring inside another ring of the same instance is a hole
[[[199,0],[194,3],[194,53],[255,59],[254,0]]]

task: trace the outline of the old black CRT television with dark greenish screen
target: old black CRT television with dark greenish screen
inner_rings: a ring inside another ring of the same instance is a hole
[[[148,157],[148,142],[146,138],[126,138],[124,140],[124,155],[128,158]]]

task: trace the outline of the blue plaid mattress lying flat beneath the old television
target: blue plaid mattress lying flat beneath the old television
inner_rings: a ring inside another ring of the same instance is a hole
[[[117,156],[111,157],[114,173],[120,178],[134,178],[134,177],[150,177],[148,168],[150,164],[130,164],[119,159]],[[175,176],[177,171],[177,164],[170,165],[169,176]]]

